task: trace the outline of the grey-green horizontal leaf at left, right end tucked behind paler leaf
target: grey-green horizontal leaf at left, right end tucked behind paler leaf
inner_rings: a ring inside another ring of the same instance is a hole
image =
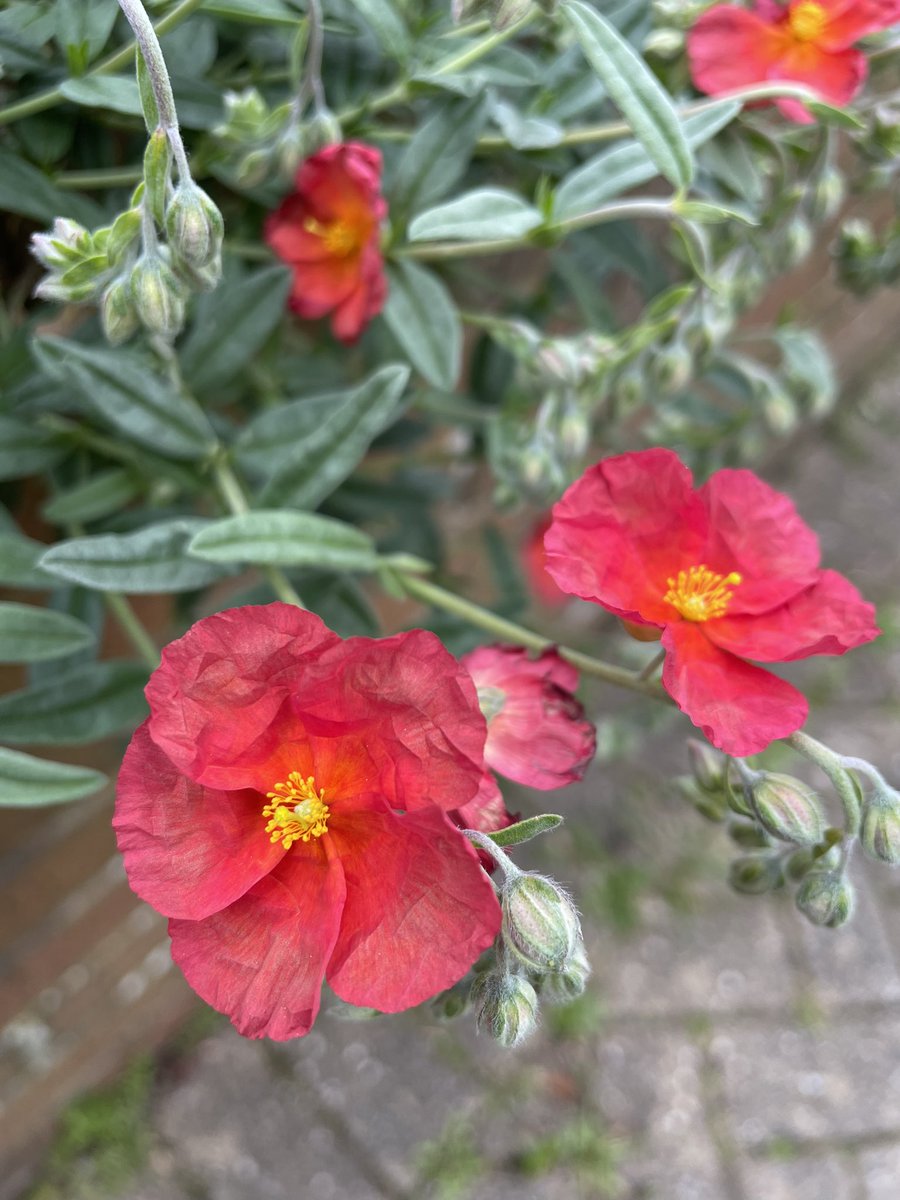
[[[71,538],[52,546],[41,566],[61,580],[110,592],[191,592],[228,574],[186,554],[188,541],[205,528],[199,517],[161,521],[134,533]]]

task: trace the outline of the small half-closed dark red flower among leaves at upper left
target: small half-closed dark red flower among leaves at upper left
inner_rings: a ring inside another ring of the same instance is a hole
[[[359,337],[388,294],[380,179],[382,156],[373,146],[325,146],[300,163],[296,191],[265,223],[265,240],[294,269],[290,307],[310,319],[330,312],[342,342]]]

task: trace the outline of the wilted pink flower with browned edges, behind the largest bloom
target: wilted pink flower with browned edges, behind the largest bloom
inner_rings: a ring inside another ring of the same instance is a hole
[[[512,646],[482,646],[461,662],[487,719],[485,762],[528,787],[546,791],[581,779],[596,732],[572,692],[578,672],[556,650],[530,659]]]

